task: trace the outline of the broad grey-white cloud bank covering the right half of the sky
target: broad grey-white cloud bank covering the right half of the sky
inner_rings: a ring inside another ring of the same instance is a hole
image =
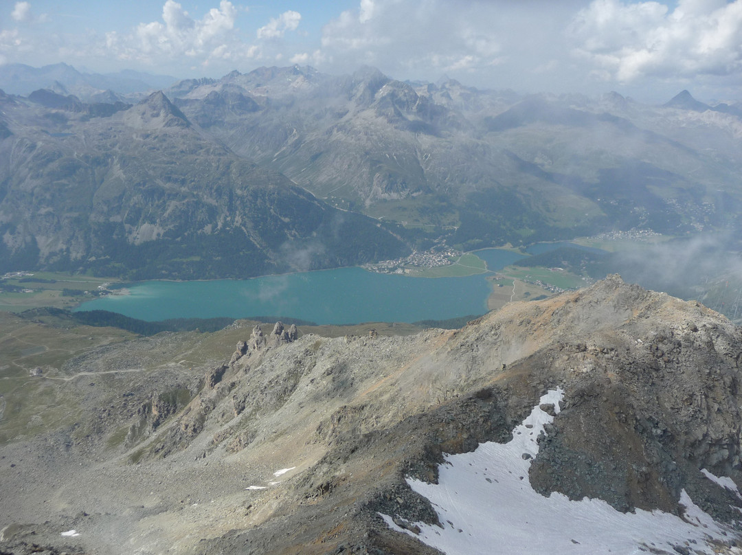
[[[741,20],[742,0],[358,0],[324,26],[319,68],[654,101],[738,88]]]

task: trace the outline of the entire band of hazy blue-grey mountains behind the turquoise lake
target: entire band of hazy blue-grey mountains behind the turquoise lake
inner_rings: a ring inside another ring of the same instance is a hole
[[[657,107],[298,66],[189,79],[135,105],[64,87],[0,101],[5,270],[232,277],[441,237],[471,249],[739,225],[740,108],[689,93]]]

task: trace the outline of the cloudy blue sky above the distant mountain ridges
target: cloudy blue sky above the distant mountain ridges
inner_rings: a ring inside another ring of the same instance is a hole
[[[0,64],[190,77],[260,66],[520,93],[742,100],[742,0],[0,0]]]

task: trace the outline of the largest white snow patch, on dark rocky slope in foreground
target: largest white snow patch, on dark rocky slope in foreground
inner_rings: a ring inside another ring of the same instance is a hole
[[[552,390],[539,404],[554,404],[558,413],[562,397],[562,390]],[[536,438],[553,419],[536,405],[507,444],[489,442],[473,453],[445,456],[438,485],[408,479],[413,490],[430,499],[442,528],[416,522],[420,533],[415,534],[391,516],[381,517],[395,531],[448,555],[637,554],[651,548],[674,553],[674,545],[710,555],[707,540],[724,539],[725,526],[685,490],[680,498],[684,519],[660,510],[621,513],[600,499],[570,501],[561,493],[536,493],[528,468],[539,450]]]

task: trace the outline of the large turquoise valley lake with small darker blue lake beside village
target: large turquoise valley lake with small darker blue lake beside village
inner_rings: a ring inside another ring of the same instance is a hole
[[[476,252],[490,271],[522,254]],[[341,268],[249,280],[145,281],[129,295],[83,303],[77,310],[108,310],[146,321],[168,318],[283,316],[317,324],[416,322],[487,312],[487,274],[465,278],[410,278]]]

